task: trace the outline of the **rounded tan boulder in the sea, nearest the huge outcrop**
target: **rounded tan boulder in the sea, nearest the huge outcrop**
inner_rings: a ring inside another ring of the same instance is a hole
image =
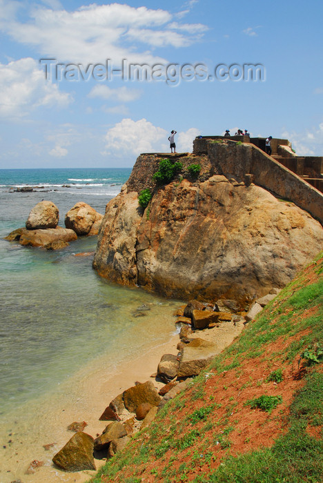
[[[65,226],[77,235],[97,235],[102,218],[92,206],[79,201],[66,213]]]

